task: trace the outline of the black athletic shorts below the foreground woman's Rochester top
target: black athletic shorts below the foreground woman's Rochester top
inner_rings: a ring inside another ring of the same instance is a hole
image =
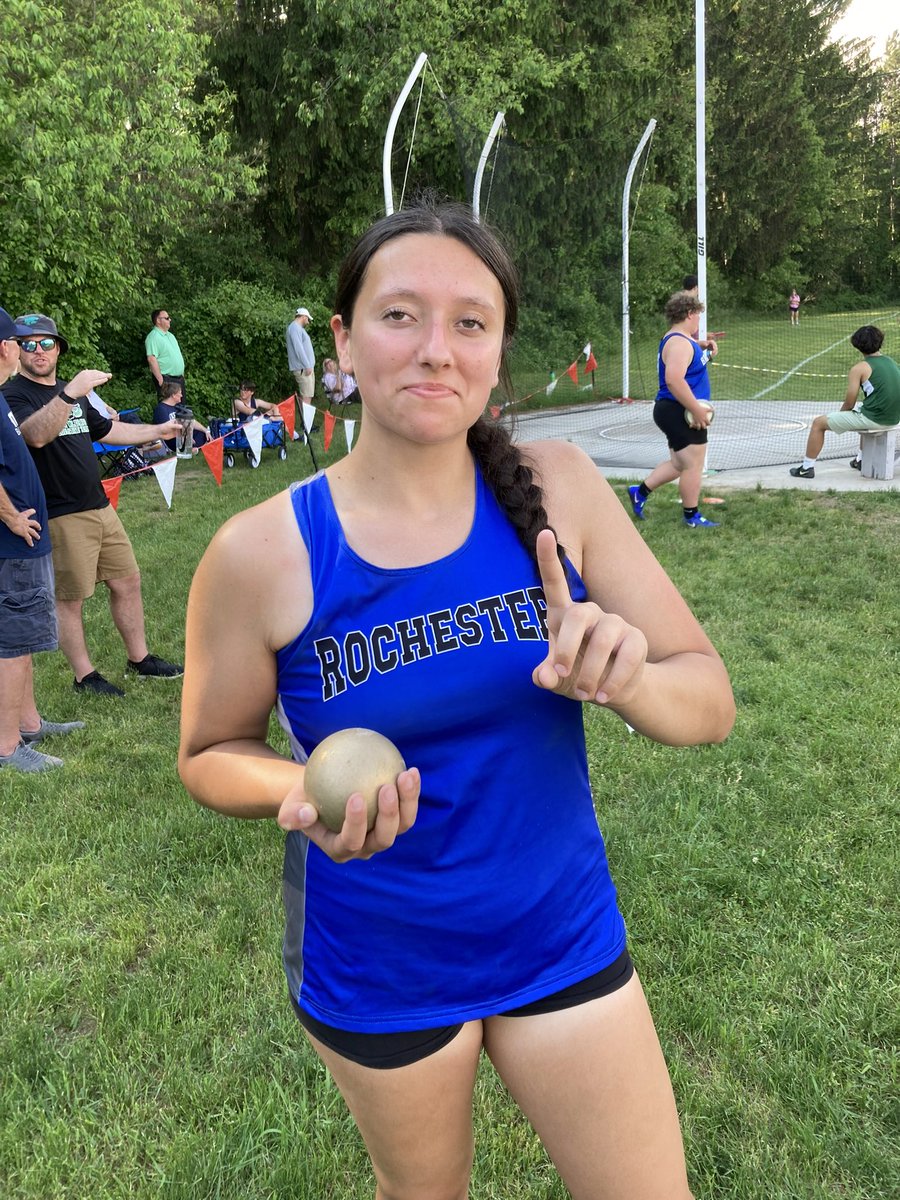
[[[570,988],[545,996],[532,1004],[523,1004],[521,1008],[510,1008],[500,1016],[538,1016],[541,1013],[554,1013],[563,1008],[575,1008],[588,1000],[596,1000],[599,996],[608,996],[610,992],[618,991],[629,982],[635,973],[634,964],[628,950],[623,950],[619,956],[598,971],[596,974],[588,976],[580,983],[574,983]],[[412,1030],[408,1033],[352,1033],[348,1030],[337,1030],[334,1025],[325,1025],[314,1016],[310,1016],[290,997],[294,1012],[304,1026],[312,1036],[326,1045],[329,1050],[340,1054],[342,1058],[358,1062],[364,1067],[372,1067],[376,1070],[388,1070],[391,1067],[408,1067],[420,1058],[448,1045],[462,1028],[462,1025],[440,1025],[431,1030]]]

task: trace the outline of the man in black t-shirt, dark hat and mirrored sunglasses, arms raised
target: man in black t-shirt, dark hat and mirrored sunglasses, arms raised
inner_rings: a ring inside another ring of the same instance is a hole
[[[109,589],[109,608],[127,652],[126,671],[172,678],[184,673],[146,648],[140,572],[128,535],[100,481],[94,442],[132,445],[175,433],[175,422],[121,425],[86,400],[109,379],[106,371],[79,371],[56,377],[56,364],[68,349],[49,317],[32,313],[18,325],[32,336],[19,338],[19,374],[5,388],[22,436],[43,484],[49,514],[60,647],[74,671],[76,691],[106,696],[125,692],[95,671],[84,636],[83,606],[97,582]]]

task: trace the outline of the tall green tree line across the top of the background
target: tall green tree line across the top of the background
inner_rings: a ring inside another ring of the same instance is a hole
[[[900,40],[872,65],[833,43],[847,0],[708,0],[707,187],[718,307],[900,293]],[[319,355],[336,266],[395,203],[470,199],[498,110],[482,211],[524,283],[521,353],[614,342],[620,205],[631,310],[658,322],[692,269],[694,12],[673,0],[8,0],[0,14],[0,302],[54,316],[72,366],[113,402],[151,401],[143,337],[166,307],[191,394],[224,412],[242,376],[283,395],[298,304]],[[413,137],[414,130],[414,137]]]

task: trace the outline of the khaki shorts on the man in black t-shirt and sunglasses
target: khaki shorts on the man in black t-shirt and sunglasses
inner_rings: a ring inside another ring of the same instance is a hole
[[[68,512],[50,520],[58,600],[86,600],[97,583],[138,574],[138,560],[115,509]]]

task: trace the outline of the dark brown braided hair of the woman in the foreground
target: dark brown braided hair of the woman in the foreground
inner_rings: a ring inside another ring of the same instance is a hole
[[[481,259],[499,283],[504,300],[500,386],[512,400],[506,350],[518,320],[518,272],[499,236],[462,204],[440,204],[425,198],[413,208],[382,217],[362,234],[337,276],[335,312],[344,328],[349,329],[353,324],[353,310],[372,258],[386,242],[407,234],[455,238]],[[469,428],[468,445],[486,484],[534,558],[538,534],[548,528],[547,514],[540,484],[512,442],[511,428],[482,414]],[[559,556],[562,559],[562,547]]]

